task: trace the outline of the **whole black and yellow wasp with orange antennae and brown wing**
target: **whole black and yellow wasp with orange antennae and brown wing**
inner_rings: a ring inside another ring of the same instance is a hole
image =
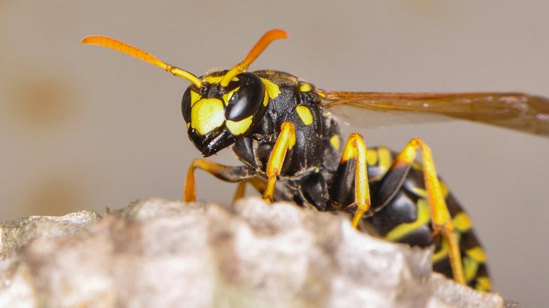
[[[189,139],[205,158],[232,146],[244,165],[193,160],[185,201],[196,200],[194,172],[202,169],[238,182],[235,198],[251,184],[267,201],[349,212],[355,228],[373,230],[381,238],[435,245],[435,271],[477,290],[491,290],[486,254],[471,220],[439,179],[429,146],[413,138],[399,153],[367,148],[360,134],[351,134],[343,144],[332,108],[432,113],[549,136],[549,99],[521,93],[324,91],[286,72],[248,72],[272,41],[287,36],[271,30],[241,63],[201,77],[111,37],[92,35],[82,44],[126,53],[191,82],[182,98]]]

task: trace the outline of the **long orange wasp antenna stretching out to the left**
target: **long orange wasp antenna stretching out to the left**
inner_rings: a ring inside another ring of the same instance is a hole
[[[113,39],[112,37],[104,37],[103,35],[90,35],[89,37],[84,37],[82,39],[82,44],[102,46],[108,49],[113,49],[115,51],[120,51],[121,53],[125,53],[129,56],[145,61],[146,63],[156,65],[158,66],[158,68],[162,68],[167,72],[171,72],[174,76],[183,77],[184,79],[189,80],[189,82],[191,82],[195,86],[198,86],[198,88],[202,87],[201,80],[198,79],[198,77],[196,77],[195,75],[192,75],[190,72],[165,63],[163,60],[160,60],[159,58],[151,55],[151,53],[148,53],[123,41],[119,41],[118,39]]]

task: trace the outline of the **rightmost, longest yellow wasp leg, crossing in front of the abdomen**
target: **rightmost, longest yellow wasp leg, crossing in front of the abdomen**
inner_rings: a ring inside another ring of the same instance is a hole
[[[431,223],[434,235],[441,234],[448,241],[448,256],[455,281],[465,285],[465,275],[461,259],[458,240],[454,231],[454,224],[448,212],[448,206],[444,200],[444,193],[434,167],[431,149],[421,139],[414,138],[408,142],[405,148],[395,158],[391,170],[400,168],[410,169],[417,156],[417,151],[422,150],[422,165],[424,172],[427,201],[431,211]]]

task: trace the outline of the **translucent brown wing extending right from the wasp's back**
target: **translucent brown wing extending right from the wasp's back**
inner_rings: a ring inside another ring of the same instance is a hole
[[[541,96],[482,92],[438,94],[317,91],[324,97],[325,108],[351,105],[404,116],[443,115],[549,137],[549,98]]]

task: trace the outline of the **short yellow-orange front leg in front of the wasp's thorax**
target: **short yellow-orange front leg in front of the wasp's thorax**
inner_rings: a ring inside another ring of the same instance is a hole
[[[296,129],[294,124],[290,122],[283,122],[280,126],[280,134],[277,142],[272,147],[272,153],[267,163],[267,187],[263,192],[263,199],[272,201],[274,195],[274,184],[277,183],[277,177],[280,174],[284,158],[286,158],[286,151],[291,150],[296,144]]]

